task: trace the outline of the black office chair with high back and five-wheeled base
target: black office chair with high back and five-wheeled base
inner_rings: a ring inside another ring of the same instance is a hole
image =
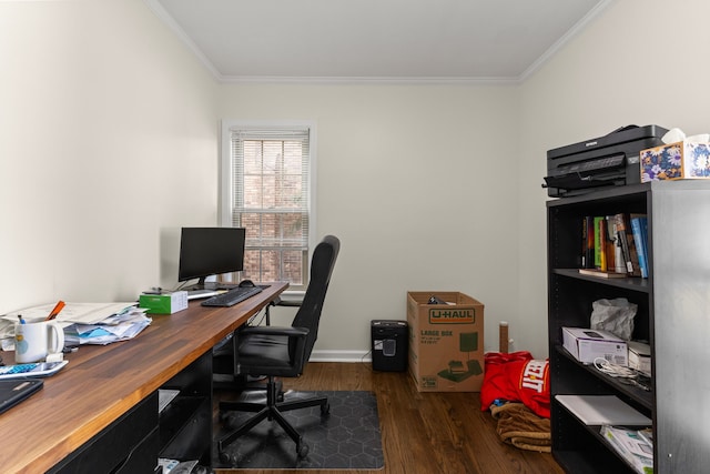
[[[275,420],[296,443],[296,454],[305,457],[308,445],[296,428],[286,421],[283,412],[321,406],[321,414],[327,414],[327,397],[283,400],[276,377],[297,377],[303,373],[311,357],[313,345],[318,335],[318,322],[325,294],[331,282],[341,241],[326,235],[313,252],[311,260],[311,280],[290,327],[247,326],[234,333],[235,373],[240,375],[266,376],[266,404],[246,402],[221,402],[220,415],[225,412],[256,412],[241,426],[217,441],[217,452],[222,462],[234,462],[225,453],[225,447],[241,435],[247,433],[264,420]]]

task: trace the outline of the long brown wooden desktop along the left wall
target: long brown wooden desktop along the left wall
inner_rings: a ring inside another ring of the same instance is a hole
[[[204,307],[200,300],[192,301],[187,310],[153,315],[151,325],[133,340],[81,346],[65,354],[69,364],[44,379],[40,392],[0,414],[0,472],[36,474],[52,468],[206,357],[217,342],[287,286],[273,283],[232,307]],[[12,362],[13,353],[2,355],[6,363]]]

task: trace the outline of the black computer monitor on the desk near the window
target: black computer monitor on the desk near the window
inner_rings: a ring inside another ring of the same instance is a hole
[[[204,289],[207,276],[244,270],[245,235],[243,228],[182,228],[178,281],[199,279],[191,289]]]

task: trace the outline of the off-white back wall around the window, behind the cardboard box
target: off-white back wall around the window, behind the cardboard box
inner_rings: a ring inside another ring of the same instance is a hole
[[[317,123],[316,232],[342,246],[316,350],[366,352],[371,320],[406,319],[406,292],[429,290],[480,300],[497,350],[517,311],[515,88],[231,84],[221,99],[225,119]]]

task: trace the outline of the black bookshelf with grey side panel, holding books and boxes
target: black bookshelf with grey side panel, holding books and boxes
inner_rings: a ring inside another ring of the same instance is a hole
[[[647,279],[579,272],[585,216],[617,213],[648,216]],[[700,383],[710,359],[708,216],[710,181],[700,180],[616,186],[547,202],[552,453],[566,471],[635,472],[598,426],[584,425],[555,400],[558,394],[616,395],[651,418],[656,473],[703,472],[710,465],[708,438],[693,434],[710,424],[710,411],[692,409],[704,407],[710,395]],[[650,391],[582,364],[562,347],[561,327],[589,327],[592,303],[616,297],[638,305],[632,339],[651,346]]]

